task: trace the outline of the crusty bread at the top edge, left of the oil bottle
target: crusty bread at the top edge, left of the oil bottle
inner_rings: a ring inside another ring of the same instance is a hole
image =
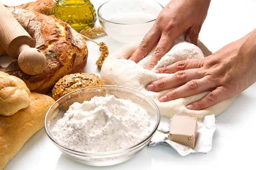
[[[53,0],[37,0],[34,2],[22,4],[16,6],[17,8],[26,9],[29,11],[39,12],[45,15],[52,14],[52,7],[54,6],[55,2]]]

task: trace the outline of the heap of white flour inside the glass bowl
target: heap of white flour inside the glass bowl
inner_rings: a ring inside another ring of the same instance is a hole
[[[53,128],[55,139],[80,151],[107,152],[130,147],[150,133],[150,117],[140,105],[114,96],[76,102]]]

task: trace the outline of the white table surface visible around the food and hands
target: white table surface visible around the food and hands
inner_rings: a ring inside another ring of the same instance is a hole
[[[32,0],[0,0],[19,5]],[[95,8],[106,0],[91,0]],[[158,0],[163,6],[168,0]],[[97,21],[97,26],[99,22]],[[200,38],[215,52],[229,42],[239,39],[256,28],[256,0],[212,0]],[[106,42],[110,53],[123,44],[108,36],[95,39]],[[87,41],[89,56],[83,72],[99,75],[94,65],[100,53],[98,46]],[[12,59],[0,57],[6,66]],[[207,154],[192,153],[180,156],[171,147],[146,147],[133,159],[110,167],[92,167],[77,163],[61,154],[41,129],[29,139],[5,170],[130,170],[130,169],[255,169],[256,152],[256,84],[241,93],[233,105],[216,117],[216,133],[212,150]]]

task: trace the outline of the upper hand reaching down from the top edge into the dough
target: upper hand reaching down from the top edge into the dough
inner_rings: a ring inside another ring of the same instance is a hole
[[[210,0],[172,0],[157,17],[154,26],[145,35],[130,59],[139,62],[157,44],[147,66],[151,70],[183,33],[186,41],[197,45],[198,34],[207,16]]]

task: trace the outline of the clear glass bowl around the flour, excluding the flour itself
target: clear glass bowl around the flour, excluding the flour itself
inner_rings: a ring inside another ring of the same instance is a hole
[[[58,119],[61,119],[64,116],[64,113],[67,111],[70,105],[72,105],[74,102],[82,103],[84,101],[89,101],[94,96],[110,95],[114,95],[116,98],[120,99],[130,99],[131,101],[142,106],[148,112],[151,122],[151,131],[145,139],[131,147],[110,152],[83,152],[74,150],[70,147],[64,146],[54,139],[52,127],[54,127],[54,124]],[[61,150],[62,153],[71,159],[93,166],[108,166],[127,161],[143,150],[156,132],[159,122],[160,113],[157,105],[148,96],[145,96],[139,91],[135,91],[131,88],[102,85],[82,88],[58,99],[47,111],[44,119],[44,129],[49,139],[58,147],[59,150]]]

